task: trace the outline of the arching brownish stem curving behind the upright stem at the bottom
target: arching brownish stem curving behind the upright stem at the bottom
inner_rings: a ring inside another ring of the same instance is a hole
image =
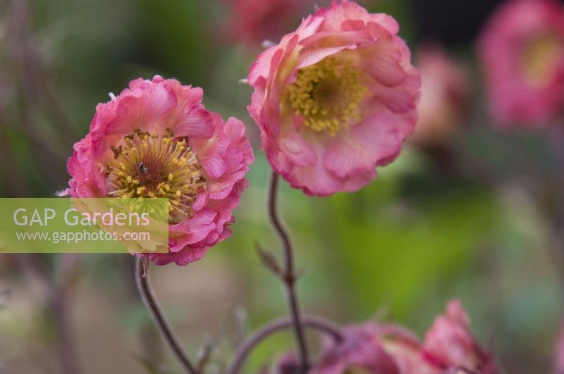
[[[233,359],[231,366],[229,366],[227,370],[227,374],[238,374],[241,368],[243,368],[243,364],[245,363],[250,352],[255,349],[255,347],[257,347],[260,342],[266,339],[266,337],[269,337],[270,335],[273,335],[281,330],[292,328],[293,326],[293,320],[283,318],[281,320],[275,320],[274,322],[271,322],[268,325],[264,326],[264,328],[262,328],[261,330],[255,332],[249,337],[249,339],[247,339],[245,342],[243,342],[243,344],[239,346],[239,348],[235,352],[235,359]],[[319,330],[320,332],[324,332],[327,335],[331,335],[331,337],[333,337],[333,339],[338,342],[343,339],[343,335],[341,335],[341,332],[335,325],[321,318],[304,318],[302,320],[302,326]]]

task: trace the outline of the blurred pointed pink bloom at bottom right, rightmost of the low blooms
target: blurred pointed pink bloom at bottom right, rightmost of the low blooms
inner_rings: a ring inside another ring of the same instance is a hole
[[[434,368],[429,373],[501,373],[494,358],[470,332],[470,320],[460,301],[450,301],[446,314],[436,317],[427,331],[422,348],[423,359]]]

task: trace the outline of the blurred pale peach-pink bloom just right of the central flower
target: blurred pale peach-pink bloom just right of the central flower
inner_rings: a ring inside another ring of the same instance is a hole
[[[467,108],[468,80],[464,69],[437,45],[417,51],[421,73],[419,119],[410,142],[422,146],[448,143],[460,130]]]

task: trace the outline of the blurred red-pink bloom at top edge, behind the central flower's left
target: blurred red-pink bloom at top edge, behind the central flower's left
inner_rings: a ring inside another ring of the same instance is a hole
[[[310,0],[225,1],[232,11],[226,35],[258,45],[265,40],[278,41],[288,28],[295,27],[307,6],[313,6]]]

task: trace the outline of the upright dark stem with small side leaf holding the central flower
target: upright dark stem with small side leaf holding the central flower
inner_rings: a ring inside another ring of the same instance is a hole
[[[269,187],[268,209],[269,216],[274,230],[281,241],[284,254],[285,266],[281,270],[280,278],[286,285],[286,293],[288,295],[288,306],[290,307],[290,318],[293,323],[295,339],[298,343],[298,351],[300,354],[301,373],[305,373],[309,368],[309,357],[307,353],[307,344],[305,342],[305,334],[300,317],[300,306],[298,305],[298,298],[295,292],[296,274],[294,269],[294,254],[292,243],[286,228],[281,223],[278,217],[278,210],[276,206],[276,198],[278,197],[278,175],[272,172]]]

